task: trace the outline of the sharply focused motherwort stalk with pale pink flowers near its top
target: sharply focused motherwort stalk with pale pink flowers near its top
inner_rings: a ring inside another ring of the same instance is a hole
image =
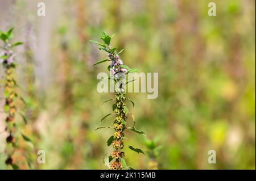
[[[109,167],[109,169],[113,170],[121,170],[121,169],[131,169],[131,167],[126,166],[125,162],[125,152],[123,151],[124,143],[123,138],[125,137],[125,131],[126,129],[130,129],[131,131],[134,131],[139,134],[144,133],[142,131],[137,130],[134,127],[135,121],[134,116],[132,113],[129,112],[128,108],[126,107],[126,101],[130,100],[130,102],[134,106],[134,102],[127,98],[125,94],[125,86],[127,83],[127,73],[134,73],[137,71],[136,69],[130,69],[129,66],[123,65],[123,61],[119,57],[119,54],[123,52],[124,49],[120,50],[117,53],[117,48],[113,48],[110,46],[110,41],[113,36],[109,36],[106,32],[102,33],[101,40],[103,43],[99,43],[98,41],[92,41],[93,43],[96,43],[100,45],[100,50],[104,50],[107,53],[108,58],[105,60],[100,60],[96,62],[96,64],[101,64],[102,62],[110,62],[110,65],[108,66],[108,70],[110,72],[110,76],[108,79],[110,81],[114,82],[114,93],[115,98],[111,98],[106,100],[105,102],[108,102],[110,100],[115,100],[115,103],[113,104],[112,108],[114,113],[109,113],[108,115],[104,116],[102,120],[104,120],[106,117],[110,115],[115,115],[113,127],[108,127],[114,129],[113,136],[110,136],[110,138],[107,141],[108,146],[112,145],[112,153],[107,153],[104,158],[105,165]],[[133,80],[134,81],[134,80]],[[131,81],[131,82],[133,82]],[[105,103],[104,102],[104,103]],[[127,115],[131,114],[131,117],[133,117],[133,126],[127,127]],[[106,127],[100,127],[100,128],[106,128]],[[97,128],[97,129],[100,129]],[[133,146],[129,146],[129,148],[133,151],[136,151],[137,153],[144,152],[139,148],[134,148]]]

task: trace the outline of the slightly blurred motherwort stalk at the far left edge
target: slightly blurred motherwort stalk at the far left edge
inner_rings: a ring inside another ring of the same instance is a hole
[[[5,154],[7,169],[19,169],[18,165],[16,165],[13,155],[15,150],[18,148],[18,131],[15,123],[15,115],[17,112],[16,100],[24,100],[21,98],[18,93],[15,91],[15,88],[18,86],[16,84],[14,78],[14,70],[16,68],[15,63],[15,53],[13,52],[13,47],[23,44],[22,42],[16,42],[14,44],[10,43],[10,40],[13,38],[13,28],[11,28],[7,32],[0,31],[0,39],[3,44],[0,46],[0,64],[4,70],[4,79],[3,79],[3,87],[4,87],[4,97],[5,104],[3,106],[3,110],[6,113],[6,132],[8,133],[6,137],[6,148]],[[26,121],[26,118],[19,113],[23,120]],[[22,137],[25,141],[29,140],[24,134]]]

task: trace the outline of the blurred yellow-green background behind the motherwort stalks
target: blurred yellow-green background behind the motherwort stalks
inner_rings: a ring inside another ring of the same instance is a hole
[[[38,16],[38,3],[46,16]],[[138,72],[158,73],[158,98],[128,93],[137,129],[161,146],[159,169],[255,169],[255,1],[1,0],[0,27],[14,27],[18,91],[27,105],[19,131],[15,162],[20,169],[106,169],[106,141],[113,117],[113,93],[96,89],[106,54],[89,40],[102,31],[115,33],[112,45],[123,62]],[[0,74],[3,75],[1,68]],[[1,87],[1,95],[3,89]],[[0,96],[2,97],[2,96]],[[0,100],[1,106],[4,104]],[[2,108],[1,108],[2,110]],[[132,122],[128,122],[131,124]],[[5,169],[5,114],[0,113],[0,169]],[[148,169],[146,139],[126,132],[125,158],[135,169]],[[46,163],[37,163],[38,150]],[[208,163],[209,150],[216,163]]]

